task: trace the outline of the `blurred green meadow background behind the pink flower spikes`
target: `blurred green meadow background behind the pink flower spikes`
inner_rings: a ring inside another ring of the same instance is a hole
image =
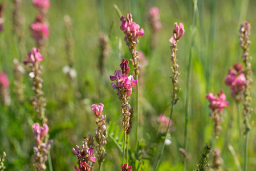
[[[46,116],[50,127],[50,139],[54,140],[50,153],[54,170],[73,170],[77,164],[77,157],[72,154],[72,147],[82,145],[83,136],[94,133],[95,117],[91,112],[91,105],[103,103],[104,114],[107,114],[107,123],[115,122],[121,127],[120,101],[116,91],[111,87],[109,75],[119,70],[121,59],[130,59],[128,47],[124,42],[124,34],[119,29],[121,22],[113,3],[121,10],[123,15],[132,13],[133,21],[144,28],[145,35],[139,38],[140,43],[137,50],[145,53],[148,65],[144,67],[144,88],[140,101],[140,139],[145,139],[145,144],[152,147],[152,140],[156,136],[158,123],[157,116],[170,104],[172,83],[170,82],[170,42],[174,22],[184,23],[185,35],[178,43],[177,59],[179,67],[178,93],[180,101],[175,105],[173,113],[172,144],[165,147],[159,170],[182,170],[182,156],[178,148],[184,144],[184,122],[185,122],[185,98],[186,77],[188,75],[188,58],[193,21],[192,0],[172,1],[64,1],[52,0],[48,11],[48,23],[50,26],[50,37],[47,42],[47,52],[43,58],[43,91],[47,100]],[[147,21],[148,10],[152,6],[160,9],[162,28],[158,32],[157,47],[153,50],[149,46],[151,30]],[[208,101],[205,94],[213,91],[217,93],[224,89],[229,101],[229,107],[224,111],[224,122],[218,146],[222,150],[224,170],[237,170],[233,156],[227,146],[231,144],[237,153],[238,160],[243,163],[238,150],[237,114],[235,102],[230,96],[229,87],[225,86],[224,78],[229,67],[234,62],[242,62],[242,50],[239,47],[239,25],[243,21],[251,23],[251,46],[250,55],[253,56],[251,68],[254,73],[256,60],[256,1],[230,0],[216,1],[198,0],[198,32],[192,54],[192,75],[190,83],[189,103],[189,137],[188,137],[188,169],[196,169],[200,153],[205,143],[209,143],[212,135],[213,122],[209,117]],[[24,59],[26,54],[19,51],[17,39],[12,31],[11,14],[13,4],[6,1],[4,31],[0,34],[1,71],[5,71],[11,83],[14,80],[13,59]],[[36,9],[32,2],[22,1],[21,13],[25,18],[26,52],[35,46],[30,36],[29,25],[34,21]],[[67,57],[65,51],[65,28],[64,15],[72,18],[72,36],[74,37],[74,68],[78,75],[78,86],[75,87],[71,80],[62,72],[66,66]],[[112,26],[112,28],[111,28]],[[99,63],[100,32],[109,35],[111,54],[105,60],[104,71],[101,75]],[[130,63],[131,64],[131,63]],[[29,67],[26,67],[29,71]],[[132,68],[132,65],[130,66]],[[26,84],[26,102],[19,103],[13,92],[11,84],[11,105],[0,107],[0,152],[5,150],[7,159],[6,170],[33,170],[32,167],[32,135],[31,121],[35,120],[29,99],[33,95],[31,91],[31,80],[28,73],[24,75]],[[133,70],[131,74],[133,73]],[[255,76],[253,76],[255,80]],[[143,87],[143,86],[141,86]],[[251,105],[255,108],[255,84],[252,84]],[[77,98],[75,94],[80,93]],[[136,89],[133,90],[129,101],[135,108]],[[169,116],[170,108],[165,110]],[[135,113],[136,115],[136,113]],[[251,121],[255,119],[255,112],[251,113]],[[242,113],[241,113],[242,120]],[[134,119],[133,124],[136,124]],[[242,124],[242,123],[241,123]],[[135,125],[131,132],[131,146],[135,143]],[[243,125],[242,125],[243,128]],[[120,129],[121,130],[121,129]],[[250,132],[249,139],[249,170],[256,170],[256,145],[255,128]],[[159,146],[155,146],[159,148]],[[113,140],[108,137],[105,146],[108,156],[105,158],[103,170],[120,170],[121,153]],[[147,151],[147,148],[145,148]],[[158,154],[158,153],[157,153]],[[1,155],[0,155],[1,156]],[[157,156],[157,155],[156,155]],[[156,160],[157,158],[153,158]],[[149,166],[149,162],[145,160]],[[47,164],[48,167],[48,164]],[[97,164],[95,164],[97,170]],[[148,170],[148,169],[144,169]]]

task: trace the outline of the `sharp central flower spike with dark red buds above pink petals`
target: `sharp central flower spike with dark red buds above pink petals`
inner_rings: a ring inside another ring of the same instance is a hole
[[[117,89],[117,96],[119,96],[122,104],[120,109],[123,115],[122,123],[124,131],[127,131],[129,128],[129,117],[131,115],[129,112],[131,106],[128,104],[129,96],[132,94],[132,88],[137,84],[137,80],[134,80],[132,75],[127,76],[129,72],[128,63],[128,60],[125,61],[123,59],[120,64],[121,70],[115,71],[115,76],[110,76],[111,81],[116,81],[116,84],[111,83],[111,86],[113,89]]]

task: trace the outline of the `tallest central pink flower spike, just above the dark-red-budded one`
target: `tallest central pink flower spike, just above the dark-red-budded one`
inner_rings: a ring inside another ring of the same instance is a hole
[[[137,25],[135,22],[132,22],[132,14],[126,15],[126,20],[124,18],[124,15],[121,17],[120,21],[121,26],[120,29],[124,31],[125,34],[125,42],[127,46],[129,47],[129,51],[132,54],[132,64],[135,69],[135,75],[139,75],[139,55],[136,51],[137,43],[139,43],[138,37],[141,37],[144,35],[144,29]]]

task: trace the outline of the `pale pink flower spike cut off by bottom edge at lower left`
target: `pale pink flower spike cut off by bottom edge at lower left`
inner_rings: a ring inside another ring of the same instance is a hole
[[[33,146],[34,149],[34,167],[36,170],[46,170],[45,162],[47,161],[47,150],[51,148],[52,140],[47,141],[48,126],[43,124],[43,127],[40,127],[38,123],[32,125],[34,131],[35,143]],[[43,143],[43,141],[47,141]]]

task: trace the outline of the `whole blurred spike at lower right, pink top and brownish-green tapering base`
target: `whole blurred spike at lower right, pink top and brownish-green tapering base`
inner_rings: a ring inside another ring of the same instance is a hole
[[[226,101],[226,95],[222,90],[218,95],[213,95],[213,93],[210,92],[206,95],[206,99],[210,102],[209,108],[212,109],[210,117],[214,120],[214,133],[218,139],[218,135],[220,135],[222,129],[220,125],[222,122],[221,112],[224,110],[224,107],[227,107],[229,102]]]

